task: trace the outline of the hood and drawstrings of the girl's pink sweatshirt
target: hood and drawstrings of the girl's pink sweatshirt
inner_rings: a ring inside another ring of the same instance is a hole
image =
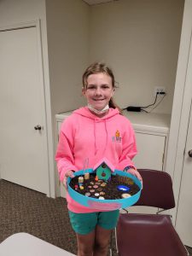
[[[119,114],[118,108],[109,108],[108,113],[106,115],[104,115],[102,118],[96,116],[96,114],[94,114],[94,113],[91,113],[90,109],[87,107],[79,108],[79,109],[75,110],[73,113],[84,116],[85,118],[91,119],[94,122],[93,137],[94,137],[94,144],[95,144],[95,155],[96,155],[98,149],[100,148],[99,145],[97,147],[97,143],[96,143],[96,129],[97,129],[96,123],[104,122],[105,132],[106,132],[106,141],[105,141],[105,146],[103,148],[103,155],[104,155],[105,151],[107,149],[107,146],[108,146],[108,119],[111,119],[116,114]]]

